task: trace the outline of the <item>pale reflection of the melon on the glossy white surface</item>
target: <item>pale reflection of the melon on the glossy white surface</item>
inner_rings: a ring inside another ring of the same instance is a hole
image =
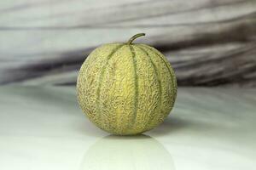
[[[108,136],[86,151],[80,170],[173,170],[172,156],[156,139]]]

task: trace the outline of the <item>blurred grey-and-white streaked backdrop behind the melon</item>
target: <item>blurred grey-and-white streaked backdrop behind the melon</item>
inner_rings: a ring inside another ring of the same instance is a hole
[[[0,84],[75,85],[94,48],[138,32],[179,86],[256,87],[255,0],[1,1]]]

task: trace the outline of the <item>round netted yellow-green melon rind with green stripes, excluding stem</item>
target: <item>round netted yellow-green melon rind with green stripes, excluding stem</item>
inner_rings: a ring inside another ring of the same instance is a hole
[[[177,81],[166,57],[137,43],[109,43],[85,59],[77,81],[78,101],[102,130],[133,135],[163,122],[177,96]]]

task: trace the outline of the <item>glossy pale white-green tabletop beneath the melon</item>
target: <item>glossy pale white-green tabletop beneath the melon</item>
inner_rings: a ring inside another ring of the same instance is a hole
[[[256,169],[256,89],[179,88],[171,115],[116,137],[82,114],[74,87],[0,88],[1,170]]]

